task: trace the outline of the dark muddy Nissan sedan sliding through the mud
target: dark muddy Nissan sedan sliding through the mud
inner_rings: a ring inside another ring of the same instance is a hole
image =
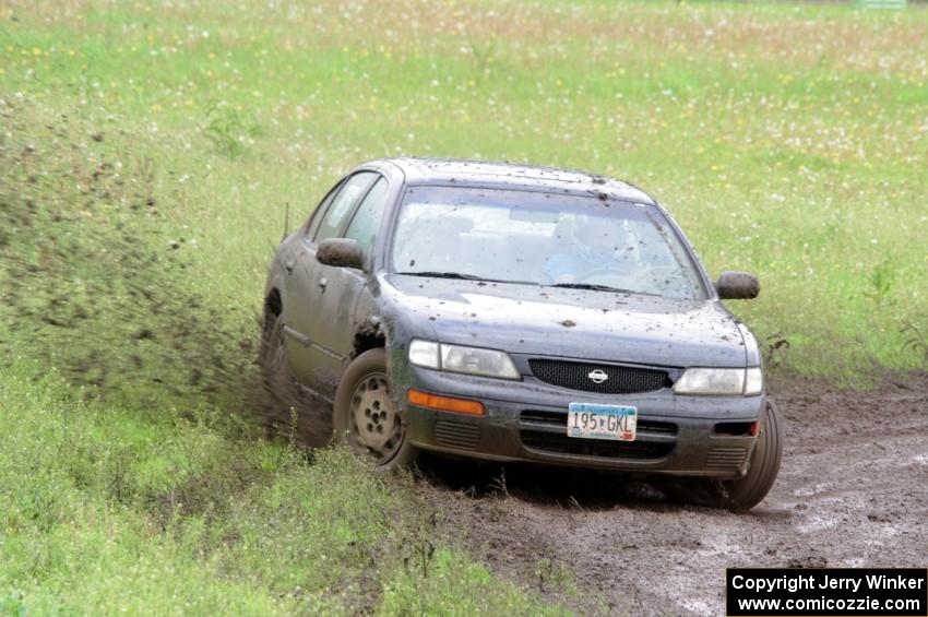
[[[277,249],[261,364],[382,467],[431,450],[698,476],[748,509],[776,477],[781,428],[758,343],[721,300],[758,290],[710,280],[626,182],[381,159]]]

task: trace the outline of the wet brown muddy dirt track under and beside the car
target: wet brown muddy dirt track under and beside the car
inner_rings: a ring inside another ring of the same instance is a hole
[[[437,462],[423,490],[451,537],[581,613],[723,615],[729,566],[928,566],[928,376],[868,392],[795,379],[771,391],[786,450],[749,514],[547,468]],[[579,594],[550,591],[549,562],[573,568]]]

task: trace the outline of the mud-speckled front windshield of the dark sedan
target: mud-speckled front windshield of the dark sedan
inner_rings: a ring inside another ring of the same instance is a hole
[[[596,197],[413,187],[391,254],[403,274],[705,297],[657,209]]]

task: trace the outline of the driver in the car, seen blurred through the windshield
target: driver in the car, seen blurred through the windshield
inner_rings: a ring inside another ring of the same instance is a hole
[[[608,221],[586,214],[564,218],[555,236],[560,251],[545,262],[545,274],[554,284],[578,283],[594,272],[616,265],[616,234]]]

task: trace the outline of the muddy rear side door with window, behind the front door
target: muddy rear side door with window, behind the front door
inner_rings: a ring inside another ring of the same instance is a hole
[[[337,237],[346,227],[354,205],[377,179],[373,171],[359,171],[345,178],[320,204],[309,219],[294,248],[286,258],[286,280],[284,283],[284,344],[290,372],[307,388],[331,400],[334,395],[331,380],[323,370],[337,357],[333,357],[328,346],[317,340],[328,276],[316,260],[316,247],[319,241]],[[331,294],[330,294],[331,296]]]

